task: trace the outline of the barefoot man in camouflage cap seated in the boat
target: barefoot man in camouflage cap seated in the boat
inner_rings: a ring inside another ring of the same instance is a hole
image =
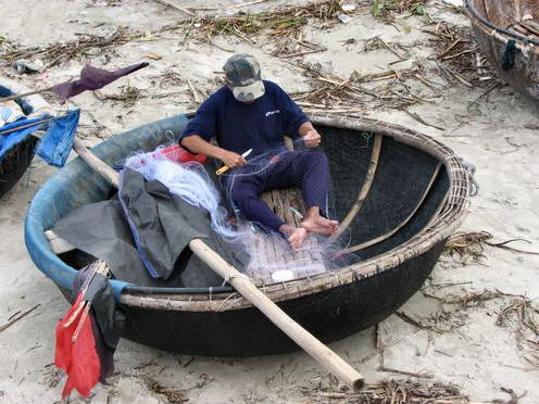
[[[245,218],[284,233],[298,250],[309,231],[331,235],[338,223],[327,216],[329,165],[319,150],[279,154],[267,169],[246,175],[235,174],[247,163],[241,153],[252,149],[249,160],[278,148],[284,137],[302,137],[314,149],[321,136],[301,109],[276,84],[262,80],[260,66],[252,55],[237,54],[223,67],[227,86],[213,93],[187,125],[181,146],[192,153],[221,160],[231,168],[234,184],[230,200]],[[218,146],[210,141],[215,138]],[[248,165],[246,166],[248,168]],[[274,189],[301,186],[305,217],[300,227],[285,224],[259,198]]]

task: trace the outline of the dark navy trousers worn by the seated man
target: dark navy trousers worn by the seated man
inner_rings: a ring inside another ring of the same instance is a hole
[[[279,231],[285,223],[260,199],[260,194],[274,189],[298,187],[301,188],[305,209],[318,206],[321,214],[327,217],[330,176],[324,152],[317,149],[287,151],[277,157],[267,169],[252,175],[233,176],[230,199],[234,206],[248,220]],[[240,174],[248,174],[250,166],[248,164],[239,169]]]

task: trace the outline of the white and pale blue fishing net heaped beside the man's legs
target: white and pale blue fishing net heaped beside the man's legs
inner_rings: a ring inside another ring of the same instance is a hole
[[[301,143],[296,143],[296,148]],[[213,230],[226,239],[235,249],[241,249],[249,256],[243,272],[251,278],[267,281],[287,281],[312,276],[337,268],[333,260],[336,245],[327,237],[309,233],[303,245],[294,251],[286,237],[267,227],[243,219],[231,201],[231,190],[241,177],[252,177],[272,169],[275,164],[286,164],[292,154],[286,148],[277,148],[263,155],[249,159],[239,169],[229,171],[218,177],[226,201],[222,201],[221,190],[203,165],[196,162],[178,164],[167,160],[162,153],[138,153],[125,162],[125,166],[142,174],[148,180],[159,180],[173,194],[186,202],[209,212]],[[206,166],[208,167],[208,166]],[[301,184],[291,184],[301,188]],[[228,211],[225,207],[228,206]],[[283,205],[286,205],[283,207]],[[302,214],[290,204],[280,203],[286,212],[283,215],[296,216],[301,222]],[[230,213],[231,214],[230,214]]]

